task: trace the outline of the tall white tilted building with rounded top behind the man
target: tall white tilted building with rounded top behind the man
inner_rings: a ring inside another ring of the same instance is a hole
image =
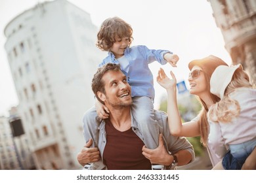
[[[41,3],[5,27],[12,77],[37,169],[78,169],[82,118],[104,53],[91,17],[65,0]]]

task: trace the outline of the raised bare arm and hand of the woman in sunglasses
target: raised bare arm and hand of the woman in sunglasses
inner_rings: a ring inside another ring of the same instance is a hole
[[[177,105],[177,89],[176,89],[176,78],[171,72],[173,79],[170,79],[165,75],[163,69],[160,68],[158,71],[157,81],[158,83],[167,90],[168,104],[168,124],[170,133],[174,136],[185,136],[185,137],[196,137],[200,135],[200,129],[198,122],[186,122],[182,124],[181,116]]]

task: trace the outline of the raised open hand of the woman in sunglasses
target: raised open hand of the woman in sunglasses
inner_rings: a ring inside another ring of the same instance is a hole
[[[177,80],[172,71],[170,72],[170,74],[172,79],[168,78],[167,75],[165,74],[165,71],[163,71],[163,69],[160,68],[156,80],[166,90],[176,90]]]

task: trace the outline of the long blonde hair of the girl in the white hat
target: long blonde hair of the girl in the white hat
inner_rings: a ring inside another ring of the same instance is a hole
[[[213,122],[230,122],[240,115],[240,105],[238,101],[231,99],[229,94],[237,88],[251,88],[249,76],[242,69],[237,69],[232,76],[231,82],[226,87],[223,99],[209,108],[207,117]]]

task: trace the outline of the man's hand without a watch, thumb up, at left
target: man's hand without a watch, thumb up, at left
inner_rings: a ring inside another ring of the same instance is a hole
[[[80,165],[84,166],[87,163],[93,163],[100,160],[100,152],[98,151],[98,148],[90,148],[92,144],[93,140],[90,139],[82,148],[81,152],[77,154],[77,161]]]

